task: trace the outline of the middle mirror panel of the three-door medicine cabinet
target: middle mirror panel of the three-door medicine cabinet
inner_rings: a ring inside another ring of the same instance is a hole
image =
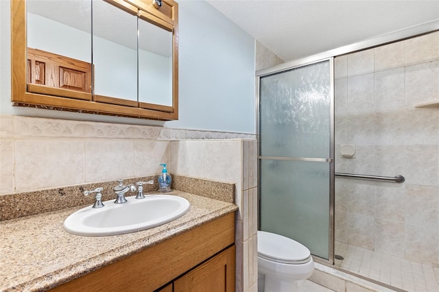
[[[93,68],[95,101],[137,106],[137,16],[102,0],[93,0]]]

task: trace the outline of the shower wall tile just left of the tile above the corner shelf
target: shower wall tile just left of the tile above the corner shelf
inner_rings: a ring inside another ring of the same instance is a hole
[[[405,69],[375,72],[375,106],[387,108],[405,104]]]

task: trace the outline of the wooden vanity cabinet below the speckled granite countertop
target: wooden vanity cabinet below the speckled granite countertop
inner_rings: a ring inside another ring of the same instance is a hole
[[[230,213],[51,291],[235,291],[234,243]]]

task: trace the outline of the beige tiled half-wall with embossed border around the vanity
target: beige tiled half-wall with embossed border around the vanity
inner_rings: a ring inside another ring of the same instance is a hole
[[[254,134],[0,116],[0,195],[169,171],[236,185],[237,291],[257,291]],[[1,206],[0,206],[1,212]]]

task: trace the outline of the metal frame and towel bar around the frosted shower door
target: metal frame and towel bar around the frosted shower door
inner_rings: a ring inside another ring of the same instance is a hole
[[[302,62],[301,62],[302,61]],[[261,83],[261,77],[268,75],[283,73],[294,69],[300,69],[312,64],[318,64],[322,62],[329,62],[329,158],[287,158],[287,157],[272,157],[261,156],[261,133],[259,128],[260,114],[259,114],[259,89]],[[258,173],[261,173],[261,160],[263,159],[276,159],[276,160],[289,160],[289,161],[308,161],[308,162],[329,162],[329,256],[328,259],[320,258],[320,256],[313,255],[313,259],[317,262],[333,265],[334,263],[334,202],[335,202],[335,165],[334,165],[334,58],[322,58],[317,60],[300,59],[298,62],[289,62],[290,66],[285,66],[283,69],[276,71],[264,70],[257,71],[256,80],[256,112],[257,112],[257,158],[258,158]],[[283,65],[285,65],[283,64]],[[258,175],[258,186],[261,186],[261,176]],[[261,188],[258,188],[258,230],[261,229]]]

